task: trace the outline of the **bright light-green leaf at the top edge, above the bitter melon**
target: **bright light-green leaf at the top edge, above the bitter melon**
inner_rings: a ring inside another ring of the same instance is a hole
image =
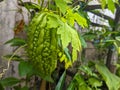
[[[55,0],[55,3],[57,5],[57,7],[60,9],[60,11],[65,14],[65,12],[67,11],[67,3],[64,0]]]

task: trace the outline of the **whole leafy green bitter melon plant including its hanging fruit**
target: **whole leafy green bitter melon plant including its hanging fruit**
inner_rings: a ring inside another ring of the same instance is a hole
[[[78,59],[78,53],[87,47],[86,41],[92,41],[98,50],[117,50],[120,53],[120,37],[119,31],[110,31],[111,29],[102,27],[101,31],[88,30],[88,32],[80,33],[75,29],[74,24],[77,23],[81,28],[89,29],[91,25],[87,13],[84,8],[88,2],[77,2],[73,0],[38,0],[38,4],[32,2],[23,2],[24,6],[31,14],[31,21],[26,27],[27,39],[13,38],[6,42],[18,49],[12,55],[6,55],[8,59],[8,67],[11,60],[19,62],[18,72],[20,78],[7,77],[0,80],[0,89],[11,87],[15,90],[29,90],[29,82],[32,77],[40,77],[42,80],[55,82],[53,76],[59,73],[56,68],[61,68],[58,62],[61,62],[64,68],[63,74],[56,86],[55,90],[62,90],[65,84],[67,70]],[[116,0],[101,0],[102,9],[108,6],[108,9],[114,12]],[[32,12],[31,12],[32,11]],[[34,13],[33,13],[34,12]],[[113,28],[114,21],[110,28]],[[70,48],[72,47],[72,48]],[[17,55],[21,49],[25,49],[25,57]],[[84,58],[84,56],[83,56]],[[103,88],[109,90],[118,90],[120,88],[120,77],[111,73],[104,63],[101,62],[84,62],[78,65],[77,73],[72,77],[67,90],[101,90]],[[84,64],[85,63],[85,64]],[[118,64],[119,65],[119,64]],[[75,67],[76,68],[76,67]],[[3,70],[2,76],[7,69]],[[119,69],[119,67],[118,67]],[[55,75],[57,78],[58,76]],[[112,82],[115,82],[114,85]],[[21,83],[25,83],[21,86]],[[104,87],[105,86],[105,87]],[[33,89],[37,86],[34,82]]]

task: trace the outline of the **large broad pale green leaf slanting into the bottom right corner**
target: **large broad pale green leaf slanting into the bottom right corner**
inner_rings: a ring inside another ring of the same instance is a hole
[[[118,90],[120,88],[120,78],[112,74],[105,65],[96,64],[96,69],[103,77],[109,90]]]

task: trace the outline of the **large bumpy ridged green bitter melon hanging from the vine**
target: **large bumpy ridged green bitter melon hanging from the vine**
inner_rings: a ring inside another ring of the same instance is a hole
[[[37,14],[27,32],[29,62],[43,79],[51,76],[57,65],[57,28],[47,27],[48,16]]]

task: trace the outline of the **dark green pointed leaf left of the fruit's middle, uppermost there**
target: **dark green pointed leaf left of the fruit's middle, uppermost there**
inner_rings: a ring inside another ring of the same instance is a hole
[[[20,38],[13,38],[5,42],[5,44],[11,44],[11,46],[22,46],[25,45],[25,40]]]

